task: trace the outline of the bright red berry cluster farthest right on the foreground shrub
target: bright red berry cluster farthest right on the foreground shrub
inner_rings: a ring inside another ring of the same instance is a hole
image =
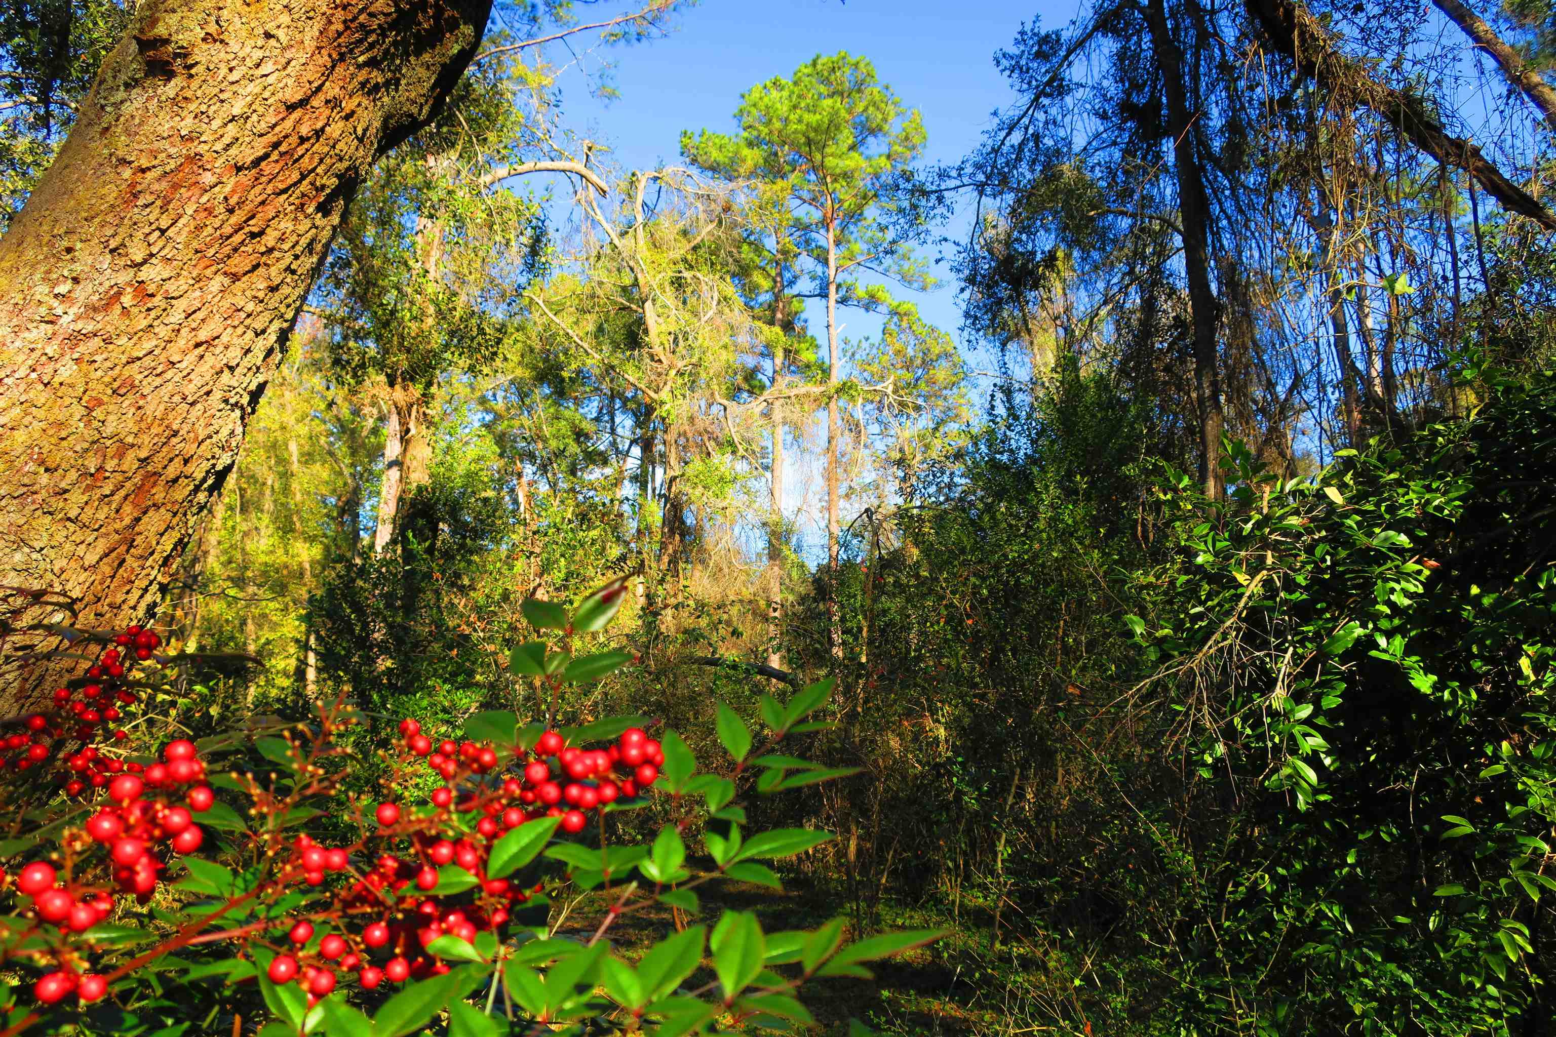
[[[443,742],[433,746],[433,740],[422,734],[422,725],[415,720],[403,720],[400,734],[405,735],[406,748],[415,756],[425,756],[426,765],[443,776],[453,779],[461,760],[478,774],[485,774],[496,768],[498,756],[490,746],[479,746],[473,742],[456,745]],[[554,759],[557,774],[552,774]],[[601,810],[621,798],[630,799],[640,788],[647,788],[658,779],[660,766],[664,765],[664,751],[641,728],[627,728],[618,742],[605,749],[579,749],[566,746],[555,731],[546,731],[535,743],[535,756],[523,768],[523,779],[507,779],[503,791],[507,801],[492,801],[484,805],[487,816],[481,819],[478,829],[481,835],[492,838],[499,830],[496,815],[503,815],[503,826],[513,829],[526,819],[552,816],[562,818],[563,832],[582,832],[588,824],[585,816],[590,810]],[[433,793],[433,805],[447,807],[453,798],[451,788],[440,788]],[[527,810],[526,810],[527,807]],[[384,821],[384,810],[398,810],[394,804],[380,808],[380,824],[386,827],[394,821]],[[484,827],[481,827],[484,826]]]

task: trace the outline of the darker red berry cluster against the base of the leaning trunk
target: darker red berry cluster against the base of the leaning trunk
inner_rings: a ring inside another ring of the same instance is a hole
[[[110,731],[110,738],[123,742],[128,732],[117,723],[123,714],[120,706],[132,706],[137,695],[123,686],[126,661],[146,661],[152,650],[162,645],[162,637],[152,630],[128,627],[124,633],[114,636],[114,647],[103,653],[103,658],[87,670],[87,683],[79,689],[54,689],[54,706],[59,709],[56,720],[45,714],[31,714],[25,718],[26,731],[17,731],[5,737],[3,748],[8,754],[0,765],[19,771],[37,766],[48,760],[59,738],[75,738],[82,743],[79,749],[65,757],[67,771],[59,780],[65,791],[79,796],[87,785],[103,788],[114,774],[126,770],[118,760],[104,757],[92,742],[100,737],[100,731]],[[79,698],[78,698],[79,695]]]

